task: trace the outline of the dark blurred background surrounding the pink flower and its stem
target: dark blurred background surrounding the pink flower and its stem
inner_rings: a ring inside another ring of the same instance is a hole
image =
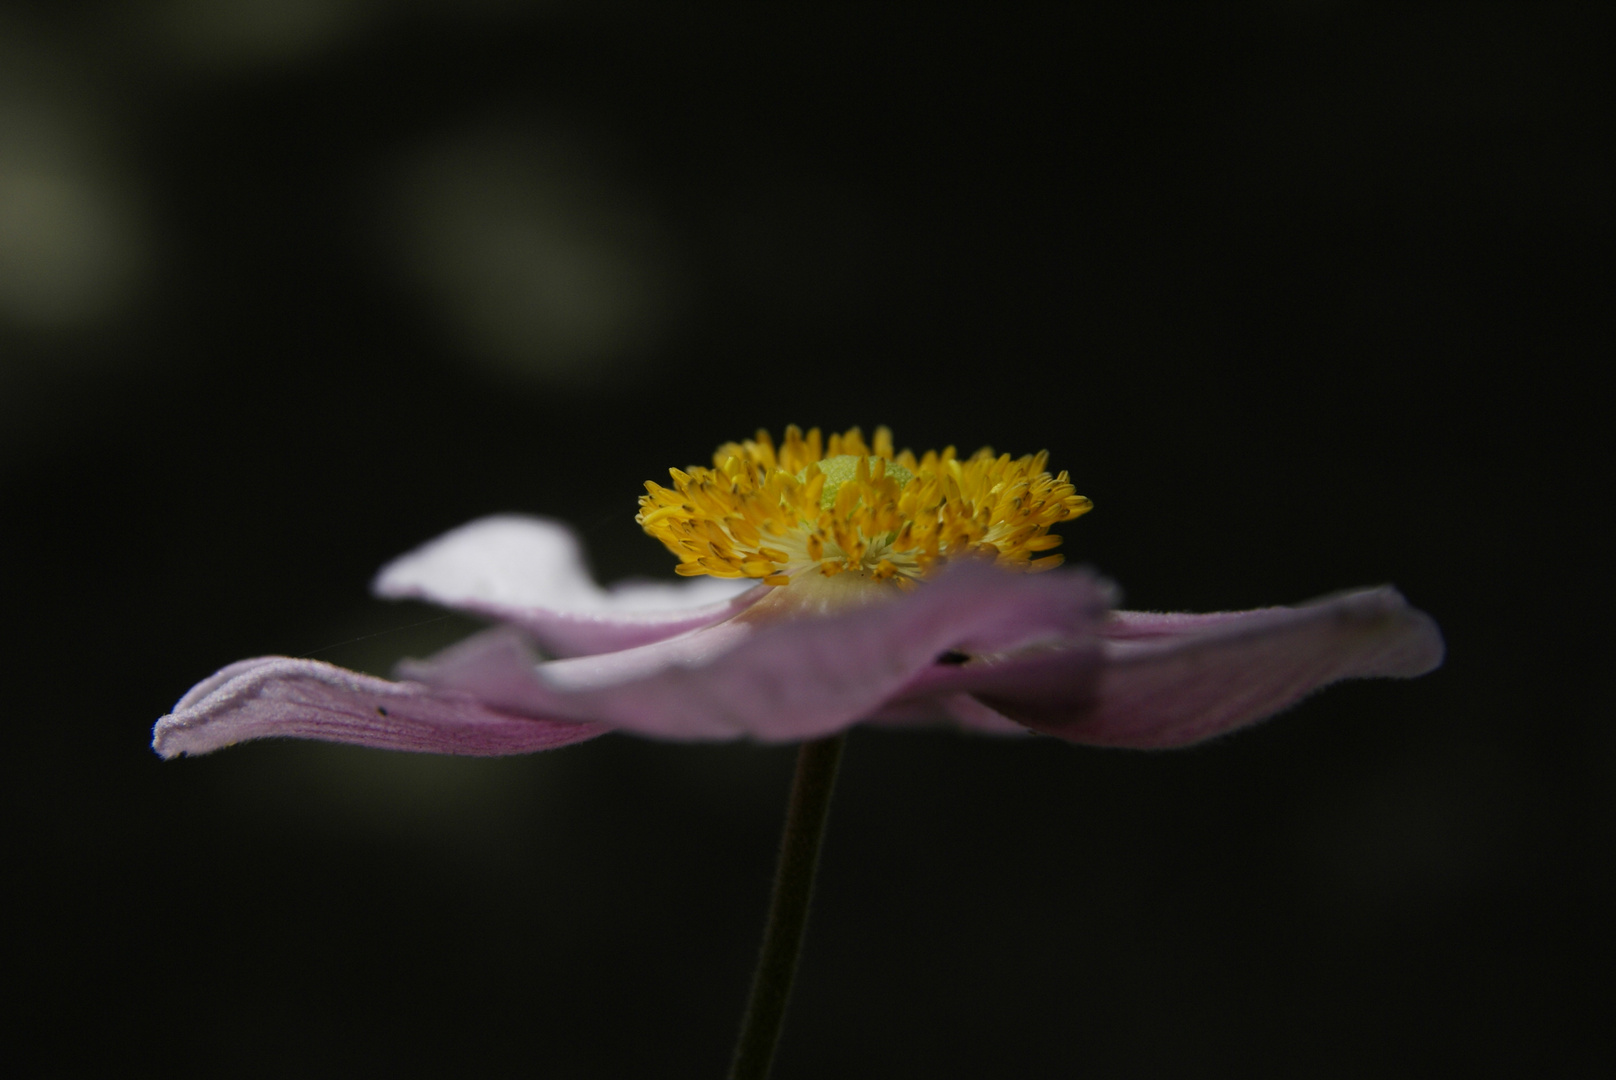
[[[40,1075],[718,1077],[792,750],[150,724],[666,576],[760,425],[1047,448],[1128,606],[1398,584],[1450,660],[1178,753],[855,732],[777,1077],[1603,1075],[1610,19],[0,8],[5,972]],[[950,373],[953,372],[953,373]]]

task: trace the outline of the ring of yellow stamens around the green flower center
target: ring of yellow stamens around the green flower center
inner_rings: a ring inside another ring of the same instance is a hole
[[[1049,527],[1092,508],[1046,461],[987,448],[962,461],[953,446],[916,458],[894,453],[884,427],[866,445],[856,427],[824,440],[793,425],[779,448],[758,432],[719,446],[711,469],[669,469],[671,488],[646,482],[635,521],[687,577],[785,585],[805,571],[850,571],[911,585],[965,556],[1042,571],[1060,564],[1058,555],[1033,558],[1060,545]]]

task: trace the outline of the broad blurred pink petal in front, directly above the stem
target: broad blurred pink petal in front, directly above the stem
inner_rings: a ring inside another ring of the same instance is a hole
[[[949,650],[1092,639],[1109,597],[1081,571],[1020,576],[970,563],[853,610],[771,619],[760,606],[653,645],[545,664],[517,635],[490,631],[402,671],[504,711],[667,739],[813,739],[877,713]]]

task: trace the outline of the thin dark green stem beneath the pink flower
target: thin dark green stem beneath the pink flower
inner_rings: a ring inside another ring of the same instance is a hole
[[[813,875],[819,867],[819,839],[831,812],[835,766],[842,760],[847,734],[805,742],[797,752],[797,778],[785,812],[781,836],[781,862],[774,870],[774,896],[769,899],[769,925],[763,933],[758,973],[751,978],[747,1019],[740,1023],[735,1059],[729,1080],[766,1080],[774,1064],[774,1046],[781,1040],[785,1002],[797,977],[803,930],[808,926],[808,899]]]

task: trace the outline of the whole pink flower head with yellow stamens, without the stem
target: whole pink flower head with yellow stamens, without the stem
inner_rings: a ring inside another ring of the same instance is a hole
[[[1091,504],[1042,454],[915,458],[886,428],[869,445],[858,428],[789,428],[777,449],[760,432],[671,475],[646,483],[637,521],[687,580],[603,590],[566,525],[485,517],[393,561],[375,590],[493,629],[401,664],[399,681],[284,656],[229,664],[157,723],[154,749],[291,736],[499,755],[612,729],[777,742],[860,721],[1162,749],[1443,656],[1437,624],[1390,587],[1218,614],[1113,610],[1112,585],[1044,555],[1060,542],[1049,527]]]

